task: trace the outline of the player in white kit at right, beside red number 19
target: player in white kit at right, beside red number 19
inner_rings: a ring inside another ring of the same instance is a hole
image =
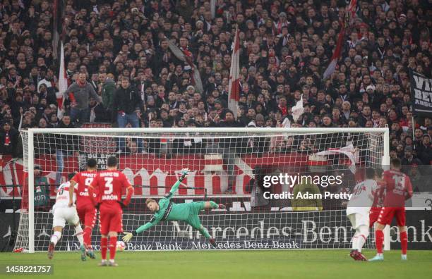
[[[373,168],[366,168],[366,180],[360,182],[352,191],[352,198],[347,205],[347,216],[356,230],[352,237],[352,251],[349,254],[356,261],[366,261],[366,257],[361,254],[366,239],[369,235],[369,211],[373,204],[373,199],[378,184],[376,183],[376,173]]]

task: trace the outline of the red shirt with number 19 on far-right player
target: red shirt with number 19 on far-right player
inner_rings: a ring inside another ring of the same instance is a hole
[[[412,197],[412,185],[408,175],[390,170],[383,173],[385,182],[385,207],[404,207],[405,200]]]

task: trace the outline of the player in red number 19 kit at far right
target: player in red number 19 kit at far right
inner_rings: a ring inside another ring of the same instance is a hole
[[[384,206],[381,208],[378,216],[378,225],[375,231],[375,241],[377,254],[369,261],[383,261],[383,242],[385,225],[392,223],[393,217],[396,217],[397,226],[400,232],[400,246],[402,248],[402,260],[407,259],[408,237],[407,228],[405,227],[405,200],[412,197],[412,185],[408,175],[400,171],[402,164],[400,159],[392,159],[390,171],[383,173],[385,182]]]

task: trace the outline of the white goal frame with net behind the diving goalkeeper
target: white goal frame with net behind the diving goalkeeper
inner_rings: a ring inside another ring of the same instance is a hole
[[[124,210],[126,232],[150,221],[145,199],[163,197],[182,169],[191,170],[173,202],[226,204],[199,215],[220,249],[350,248],[347,194],[364,180],[366,167],[389,161],[388,129],[378,128],[80,128],[21,135],[26,178],[16,248],[25,252],[47,250],[56,187],[90,158],[104,169],[116,156],[135,187]],[[312,190],[292,180],[305,177],[318,179],[309,183]],[[302,189],[321,197],[294,197]],[[96,224],[96,249],[99,241]],[[374,247],[373,233],[366,247]],[[73,228],[66,225],[56,249],[79,249]],[[164,249],[210,246],[182,221],[159,223],[126,244],[126,251]]]

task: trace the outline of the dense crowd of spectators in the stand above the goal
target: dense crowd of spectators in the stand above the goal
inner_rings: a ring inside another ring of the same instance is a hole
[[[59,59],[53,1],[0,4],[0,153],[19,156],[18,128],[390,128],[390,155],[432,161],[432,119],[413,123],[409,70],[431,76],[432,10],[426,0],[357,1],[342,57],[327,80],[347,1],[66,0],[68,77],[57,117]],[[227,109],[232,40],[240,30],[239,113]],[[193,56],[191,67],[168,39]],[[71,94],[69,94],[71,93]],[[303,96],[304,114],[291,108]]]

